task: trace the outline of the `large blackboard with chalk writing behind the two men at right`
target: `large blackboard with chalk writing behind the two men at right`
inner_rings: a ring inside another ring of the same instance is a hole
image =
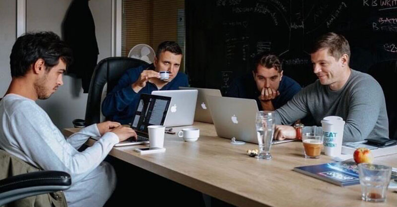
[[[349,41],[355,70],[397,59],[397,0],[187,0],[186,25],[191,85],[222,92],[262,51],[302,86],[314,82],[309,47],[330,31]]]

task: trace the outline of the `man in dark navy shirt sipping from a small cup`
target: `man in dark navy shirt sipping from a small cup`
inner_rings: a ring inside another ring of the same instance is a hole
[[[118,84],[102,103],[102,113],[111,120],[128,124],[142,93],[151,94],[157,90],[178,90],[188,87],[188,77],[179,72],[182,50],[176,42],[165,41],[157,47],[156,57],[149,67],[131,68],[120,78]],[[160,76],[169,72],[168,79]]]

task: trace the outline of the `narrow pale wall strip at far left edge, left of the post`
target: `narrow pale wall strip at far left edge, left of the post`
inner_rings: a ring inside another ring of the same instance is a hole
[[[11,82],[9,54],[16,40],[16,3],[0,0],[0,98]]]

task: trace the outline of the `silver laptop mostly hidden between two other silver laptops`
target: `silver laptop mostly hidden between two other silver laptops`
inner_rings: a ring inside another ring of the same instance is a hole
[[[189,87],[179,87],[179,90],[192,90],[196,89],[199,91],[197,95],[195,121],[214,123],[212,121],[211,112],[209,111],[207,96],[217,96],[221,97],[222,94],[218,89],[202,89],[202,88],[189,88]]]

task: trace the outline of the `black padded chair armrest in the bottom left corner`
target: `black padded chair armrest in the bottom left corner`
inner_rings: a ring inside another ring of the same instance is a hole
[[[37,171],[5,178],[0,180],[0,206],[30,196],[64,191],[70,185],[70,175],[61,171]]]

